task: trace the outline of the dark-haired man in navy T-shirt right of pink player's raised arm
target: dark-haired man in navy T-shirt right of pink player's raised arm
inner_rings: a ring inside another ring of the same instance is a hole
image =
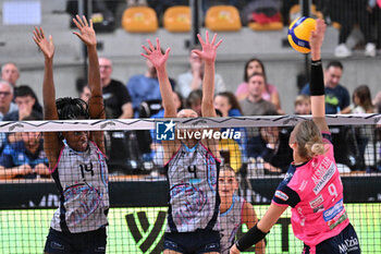
[[[340,84],[343,75],[343,64],[339,61],[329,62],[324,70],[325,113],[349,113],[349,92]],[[303,87],[300,94],[310,95],[309,84]]]

